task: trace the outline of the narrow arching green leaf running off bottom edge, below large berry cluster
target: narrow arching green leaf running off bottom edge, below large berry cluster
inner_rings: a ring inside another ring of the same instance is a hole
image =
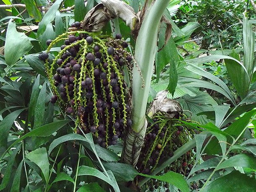
[[[110,178],[108,178],[106,175],[104,175],[98,169],[88,167],[88,166],[80,166],[78,168],[78,176],[81,176],[81,175],[96,176],[99,179],[102,179],[103,181],[110,184],[114,188],[115,192],[120,192],[117,182],[115,180],[111,180]]]

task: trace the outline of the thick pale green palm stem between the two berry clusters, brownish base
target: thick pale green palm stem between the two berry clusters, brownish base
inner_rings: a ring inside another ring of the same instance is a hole
[[[141,146],[144,143],[146,133],[146,104],[149,95],[149,87],[153,72],[154,59],[157,45],[157,34],[159,23],[167,8],[169,0],[157,0],[154,4],[148,6],[145,19],[136,39],[135,61],[143,75],[145,85],[141,80],[141,74],[133,67],[133,94],[132,94],[132,112],[133,124],[130,131],[127,132],[125,144],[122,153],[123,162],[136,165],[140,154]],[[143,86],[143,87],[142,87]],[[128,161],[128,160],[131,161]]]

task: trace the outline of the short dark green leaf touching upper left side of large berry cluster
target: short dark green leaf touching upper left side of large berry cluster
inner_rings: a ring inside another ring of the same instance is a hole
[[[37,73],[46,77],[44,62],[39,60],[38,54],[25,55],[26,62],[32,67]]]

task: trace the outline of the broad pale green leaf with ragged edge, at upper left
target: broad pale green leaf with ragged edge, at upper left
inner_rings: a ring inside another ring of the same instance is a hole
[[[5,39],[5,62],[12,66],[32,48],[29,38],[16,31],[16,24],[9,21]]]

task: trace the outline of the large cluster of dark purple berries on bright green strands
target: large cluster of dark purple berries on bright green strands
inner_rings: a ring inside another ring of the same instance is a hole
[[[60,52],[49,60],[48,52],[60,41],[64,41]],[[92,132],[102,147],[115,145],[132,123],[123,72],[123,66],[132,61],[125,50],[128,43],[120,34],[113,39],[86,31],[70,31],[46,43],[47,52],[39,54],[39,59],[46,61],[54,93],[50,102],[59,99],[66,114],[73,115],[75,132],[81,133],[79,126],[84,133]]]

